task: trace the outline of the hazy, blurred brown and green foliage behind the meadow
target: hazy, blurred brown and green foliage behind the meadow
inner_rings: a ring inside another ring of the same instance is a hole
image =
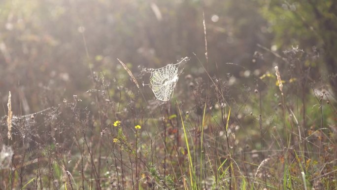
[[[239,88],[255,83],[250,75],[276,64],[291,68],[274,54],[299,46],[317,55],[303,65],[313,67],[312,79],[332,75],[334,88],[336,12],[334,0],[1,0],[2,102],[12,91],[14,114],[19,102],[22,114],[55,106],[92,88],[89,67],[111,82],[128,80],[116,58],[138,76],[138,66],[190,56],[185,74],[206,76],[193,55],[205,65],[203,13],[210,76],[230,73]]]

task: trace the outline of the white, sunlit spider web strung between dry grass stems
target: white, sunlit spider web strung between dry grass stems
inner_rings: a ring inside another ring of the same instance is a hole
[[[179,63],[169,64],[159,69],[148,69],[151,73],[150,84],[151,89],[157,100],[168,101],[172,94],[175,84],[179,79],[180,64],[185,64],[189,60],[188,57],[183,58]]]

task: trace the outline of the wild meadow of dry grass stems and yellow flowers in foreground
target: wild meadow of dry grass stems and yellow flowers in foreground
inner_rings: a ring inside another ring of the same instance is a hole
[[[336,102],[323,82],[270,68],[237,88],[210,68],[162,104],[129,70],[123,86],[92,73],[86,96],[9,114],[1,189],[337,189]]]

